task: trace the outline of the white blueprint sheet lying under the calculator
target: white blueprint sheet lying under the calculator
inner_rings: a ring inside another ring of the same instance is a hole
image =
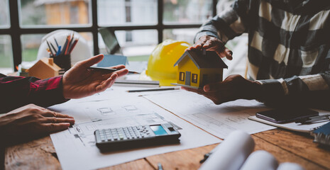
[[[50,135],[62,169],[99,169],[131,162],[143,157],[182,149],[202,147],[220,142],[218,138],[177,118],[163,108],[138,94],[108,90],[97,96],[71,100],[50,109],[75,117],[76,124],[69,130]],[[108,97],[106,97],[108,96]],[[95,146],[93,132],[98,128],[114,128],[128,125],[151,125],[170,122],[181,133],[180,145],[167,145],[102,154]]]

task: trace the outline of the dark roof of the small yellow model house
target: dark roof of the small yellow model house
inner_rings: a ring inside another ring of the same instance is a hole
[[[204,53],[204,54],[203,54]],[[198,69],[200,68],[228,68],[228,66],[221,60],[219,55],[214,51],[202,51],[202,50],[187,50],[174,66],[179,64],[186,56],[194,62]]]

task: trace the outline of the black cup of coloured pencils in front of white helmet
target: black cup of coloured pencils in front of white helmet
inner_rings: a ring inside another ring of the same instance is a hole
[[[57,64],[58,67],[61,67],[62,69],[65,69],[65,72],[71,68],[71,52],[75,48],[75,45],[77,45],[78,38],[75,38],[75,34],[72,33],[72,35],[67,35],[67,38],[65,40],[64,45],[59,45],[57,43],[57,40],[55,39],[56,47],[46,40],[48,48],[48,54],[50,57],[53,58],[55,64]]]

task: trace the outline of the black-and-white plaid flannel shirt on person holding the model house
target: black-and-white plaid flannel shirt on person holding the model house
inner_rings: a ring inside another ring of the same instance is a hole
[[[329,105],[329,4],[329,0],[236,0],[204,23],[195,41],[210,35],[226,43],[248,33],[248,75],[262,84],[259,101]]]

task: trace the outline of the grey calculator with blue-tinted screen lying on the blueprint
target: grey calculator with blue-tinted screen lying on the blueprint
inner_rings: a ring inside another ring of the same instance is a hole
[[[180,132],[170,123],[95,130],[97,147],[104,152],[180,143]]]

